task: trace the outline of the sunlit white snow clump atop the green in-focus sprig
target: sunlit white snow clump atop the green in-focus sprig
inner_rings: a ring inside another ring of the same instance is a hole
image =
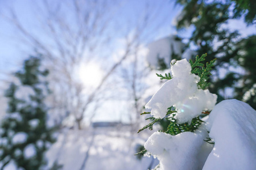
[[[199,76],[191,74],[187,59],[171,65],[171,74],[172,79],[164,83],[145,105],[151,109],[152,116],[163,118],[168,108],[174,106],[177,111],[175,118],[179,123],[184,123],[199,116],[202,111],[213,109],[217,95],[197,88]]]

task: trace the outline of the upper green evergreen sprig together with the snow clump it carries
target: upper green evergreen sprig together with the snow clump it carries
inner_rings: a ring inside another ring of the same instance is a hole
[[[155,122],[164,117],[171,120],[166,132],[172,135],[183,131],[194,131],[200,126],[201,121],[198,116],[201,113],[209,113],[217,100],[216,95],[205,90],[209,86],[207,80],[215,61],[215,59],[210,61],[204,67],[201,62],[206,56],[207,54],[203,54],[200,58],[196,56],[196,61],[189,61],[190,64],[186,59],[172,63],[172,74],[168,73],[165,76],[156,74],[160,79],[168,79],[168,81],[146,104],[146,108],[151,108],[151,112],[142,114],[151,114],[152,117],[147,120],[152,122],[140,129],[138,133],[147,128],[152,130]]]

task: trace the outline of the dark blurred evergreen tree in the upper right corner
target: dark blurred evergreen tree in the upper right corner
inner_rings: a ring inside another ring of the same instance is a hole
[[[177,3],[184,6],[176,19],[177,30],[193,29],[187,48],[193,48],[199,55],[207,53],[205,62],[217,58],[209,90],[218,95],[218,101],[236,98],[255,109],[255,35],[244,37],[225,25],[236,18],[255,26],[255,1],[178,0]]]

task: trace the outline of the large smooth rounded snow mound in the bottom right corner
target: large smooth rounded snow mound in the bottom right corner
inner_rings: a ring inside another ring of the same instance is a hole
[[[209,115],[215,141],[204,169],[256,169],[256,111],[235,99],[224,100]]]

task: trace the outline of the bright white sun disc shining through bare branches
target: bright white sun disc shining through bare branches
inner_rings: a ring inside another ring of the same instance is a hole
[[[84,86],[97,87],[102,79],[102,70],[96,63],[82,64],[79,68],[79,78]]]

